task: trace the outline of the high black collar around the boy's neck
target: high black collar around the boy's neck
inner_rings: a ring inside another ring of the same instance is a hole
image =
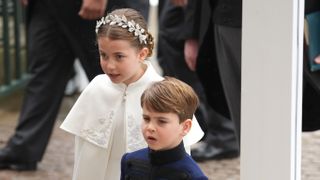
[[[149,158],[152,165],[163,165],[182,159],[186,154],[183,141],[175,148],[164,151],[149,149]]]

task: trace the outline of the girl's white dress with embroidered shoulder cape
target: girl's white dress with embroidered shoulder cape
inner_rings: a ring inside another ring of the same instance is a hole
[[[163,79],[151,63],[136,82],[115,84],[107,75],[96,76],[61,125],[75,135],[74,180],[120,179],[120,161],[125,152],[145,148],[140,125],[140,97],[153,82]],[[204,135],[194,118],[184,144],[187,149]]]

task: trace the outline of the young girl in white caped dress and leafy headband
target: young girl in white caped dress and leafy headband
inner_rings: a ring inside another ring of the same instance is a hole
[[[114,10],[97,22],[100,64],[95,77],[72,107],[61,128],[75,135],[73,179],[120,179],[124,153],[146,147],[141,134],[140,96],[163,78],[145,59],[154,42],[143,17],[133,9]],[[203,132],[195,121],[185,146]]]

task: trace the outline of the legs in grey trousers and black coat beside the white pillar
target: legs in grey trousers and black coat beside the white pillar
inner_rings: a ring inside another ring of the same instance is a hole
[[[234,123],[240,143],[242,1],[190,2],[195,3],[192,6],[195,10],[195,22],[200,27],[196,72],[205,89],[208,103],[221,119]],[[208,136],[204,139],[205,145],[192,152],[194,159],[210,159],[214,154],[213,147],[224,148],[226,144],[215,144],[211,138],[215,135],[213,129],[216,127],[215,121],[211,120]],[[228,148],[232,151],[225,156],[235,157],[239,152],[238,143],[229,144]]]

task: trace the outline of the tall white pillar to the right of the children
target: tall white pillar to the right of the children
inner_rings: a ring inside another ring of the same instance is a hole
[[[241,180],[300,180],[303,0],[243,0]]]

